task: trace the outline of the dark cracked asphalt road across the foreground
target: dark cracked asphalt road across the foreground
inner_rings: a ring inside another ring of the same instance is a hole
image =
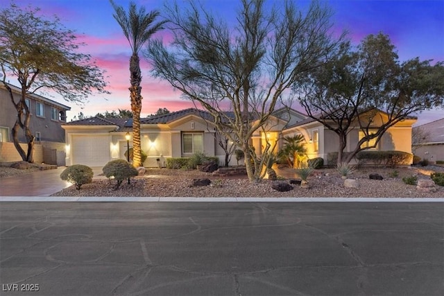
[[[0,207],[1,295],[444,295],[443,202]]]

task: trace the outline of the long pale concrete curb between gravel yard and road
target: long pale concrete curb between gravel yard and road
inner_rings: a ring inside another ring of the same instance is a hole
[[[444,202],[444,198],[137,198],[0,196],[0,202]]]

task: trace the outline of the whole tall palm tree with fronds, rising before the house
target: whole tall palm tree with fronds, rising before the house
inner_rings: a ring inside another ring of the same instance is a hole
[[[128,12],[122,6],[117,6],[113,0],[110,0],[114,8],[114,19],[117,20],[122,28],[128,42],[130,42],[132,55],[130,58],[130,98],[131,111],[133,112],[133,165],[142,165],[142,155],[140,148],[140,112],[142,111],[142,74],[140,72],[139,51],[142,46],[150,39],[151,35],[162,30],[162,25],[167,21],[153,23],[160,15],[157,10],[146,12],[144,6],[137,10],[136,4],[131,1]]]

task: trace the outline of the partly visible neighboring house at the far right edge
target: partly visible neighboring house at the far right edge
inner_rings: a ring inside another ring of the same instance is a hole
[[[415,129],[427,132],[425,141],[416,145],[415,155],[429,162],[444,161],[444,118],[416,126]]]

